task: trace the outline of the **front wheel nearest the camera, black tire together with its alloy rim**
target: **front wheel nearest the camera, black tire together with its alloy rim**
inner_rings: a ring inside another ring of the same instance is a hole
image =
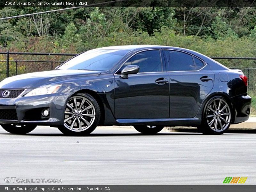
[[[83,103],[84,99],[85,99],[85,101]],[[76,101],[76,106],[74,104],[75,101]],[[80,102],[78,102],[78,101],[80,101]],[[68,104],[70,102],[73,102],[73,105],[71,103],[70,106],[74,110],[72,110],[68,106]],[[93,106],[93,107],[91,107],[83,112],[84,109],[86,109],[90,106]],[[79,111],[77,109],[79,109]],[[75,113],[73,111],[75,111]],[[82,112],[80,112],[80,111],[82,111]],[[78,113],[78,112],[80,112],[80,114],[76,115],[76,113]],[[66,113],[69,113],[69,114],[67,115]],[[74,113],[74,114],[70,114],[70,113]],[[88,117],[88,115],[90,115],[90,116],[94,115],[94,117]],[[72,118],[70,120],[66,121],[71,116],[72,116]],[[75,123],[73,123],[74,121],[75,121]],[[100,106],[99,106],[98,102],[92,97],[92,95],[90,95],[88,93],[78,93],[78,94],[73,95],[71,98],[69,98],[67,105],[66,105],[65,114],[64,114],[64,124],[62,126],[58,127],[58,129],[64,135],[84,136],[84,135],[88,135],[91,132],[93,132],[94,129],[99,124],[99,121],[100,121]],[[70,123],[70,122],[72,122],[72,123]],[[90,125],[88,125],[86,123],[89,123]],[[72,126],[72,124],[73,124],[73,126]],[[82,126],[84,126],[84,128]]]

